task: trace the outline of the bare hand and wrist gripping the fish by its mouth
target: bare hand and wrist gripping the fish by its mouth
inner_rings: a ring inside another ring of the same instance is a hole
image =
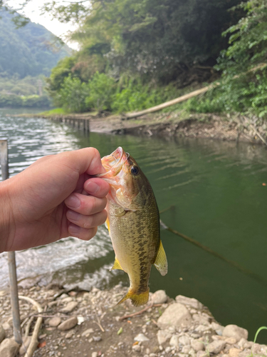
[[[107,218],[110,186],[97,149],[38,159],[0,183],[0,252],[18,251],[75,236],[95,236]]]

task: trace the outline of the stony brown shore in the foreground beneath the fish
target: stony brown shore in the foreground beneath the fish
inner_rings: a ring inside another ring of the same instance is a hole
[[[38,313],[20,301],[23,346],[12,338],[8,291],[0,291],[0,356],[26,356],[37,316],[43,323],[34,357],[248,357],[267,356],[267,346],[248,341],[248,331],[221,326],[206,306],[194,298],[169,298],[164,291],[150,293],[147,306],[134,308],[117,301],[127,288],[106,291],[66,291],[60,286],[29,289],[19,294],[38,302]],[[253,336],[251,336],[253,338]]]

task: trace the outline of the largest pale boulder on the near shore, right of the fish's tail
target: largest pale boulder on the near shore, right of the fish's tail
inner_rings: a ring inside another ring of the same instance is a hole
[[[174,328],[189,326],[190,323],[192,323],[192,316],[182,303],[169,305],[157,320],[157,326],[162,329],[170,326]]]

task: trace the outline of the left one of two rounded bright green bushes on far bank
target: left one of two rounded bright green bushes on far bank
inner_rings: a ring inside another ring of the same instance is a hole
[[[79,113],[86,111],[85,99],[90,95],[88,84],[78,78],[68,76],[64,79],[61,89],[54,96],[55,104],[64,110]]]

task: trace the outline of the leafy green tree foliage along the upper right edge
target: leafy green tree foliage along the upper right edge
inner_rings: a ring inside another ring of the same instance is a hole
[[[221,111],[236,111],[267,118],[267,3],[251,0],[234,10],[246,16],[224,32],[229,48],[221,51],[216,69],[222,72],[221,86],[204,101],[216,104]],[[211,111],[213,106],[211,105]]]

